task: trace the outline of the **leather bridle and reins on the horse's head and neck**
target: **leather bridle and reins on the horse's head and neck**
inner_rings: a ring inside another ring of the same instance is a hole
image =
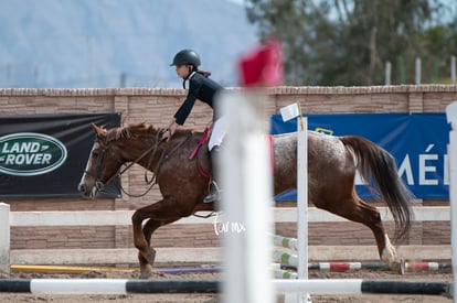
[[[150,154],[149,160],[148,160],[148,165],[147,165],[147,167],[149,167],[151,165],[151,163],[152,163],[152,160],[153,160],[153,158],[155,158],[155,155],[156,155],[156,153],[158,151],[158,148],[159,148],[160,143],[166,140],[166,139],[159,139],[164,131],[168,131],[168,130],[167,129],[160,129],[156,133],[156,143],[153,145],[151,145],[149,149],[147,149],[145,152],[142,152],[137,159],[135,159],[134,161],[130,161],[127,165],[125,165],[124,169],[119,169],[106,182],[103,181],[103,178],[102,178],[102,171],[104,169],[104,164],[105,164],[104,162],[106,160],[106,154],[107,154],[107,152],[110,149],[109,148],[110,147],[109,143],[113,140],[109,140],[108,137],[105,137],[104,142],[103,143],[99,143],[99,140],[96,139],[95,143],[98,142],[99,144],[103,145],[103,150],[102,150],[102,153],[100,153],[100,160],[99,160],[98,165],[96,167],[96,172],[97,173],[96,173],[96,175],[93,175],[87,170],[84,173],[87,174],[88,176],[93,176],[95,178],[94,186],[97,188],[98,192],[100,192],[103,190],[103,187],[105,187],[107,184],[110,184],[114,180],[120,177],[134,164],[139,163],[139,161],[141,161],[142,159],[145,159],[148,154]],[[169,155],[171,155],[172,153],[174,153],[176,151],[178,151],[178,149],[181,148],[181,145],[184,144],[185,141],[188,141],[191,137],[192,137],[192,132],[189,131],[188,134],[185,136],[185,138],[183,140],[181,140],[177,145],[174,145],[171,150],[168,151],[167,149],[164,149],[162,151],[162,153],[161,153],[161,155],[159,158],[159,161],[158,161],[158,163],[157,163],[157,165],[156,165],[156,167],[155,167],[155,170],[152,172],[152,177],[148,178],[148,175],[147,175],[147,171],[148,170],[145,171],[145,181],[146,181],[146,184],[149,185],[149,187],[144,193],[141,193],[141,194],[130,194],[127,191],[125,191],[125,188],[123,187],[123,184],[120,183],[120,190],[123,191],[123,193],[126,194],[126,195],[128,195],[128,196],[130,196],[130,197],[142,197],[146,194],[148,194],[152,190],[153,185],[158,183],[158,175],[159,175],[160,169],[161,169],[161,166],[163,164],[163,161],[166,159],[168,159]],[[120,164],[124,164],[125,163],[125,162],[123,162],[118,158],[116,160]]]

